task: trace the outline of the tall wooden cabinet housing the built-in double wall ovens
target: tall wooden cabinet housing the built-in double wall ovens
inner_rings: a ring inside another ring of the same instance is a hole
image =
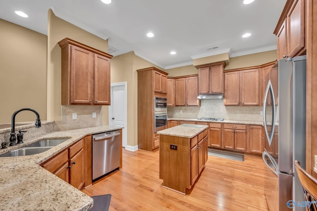
[[[159,135],[154,132],[154,97],[166,98],[168,73],[155,67],[140,69],[137,73],[138,148],[154,151],[159,148]]]

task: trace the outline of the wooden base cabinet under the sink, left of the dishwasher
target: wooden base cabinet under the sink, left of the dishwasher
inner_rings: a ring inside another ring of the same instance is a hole
[[[81,189],[85,183],[84,139],[77,141],[41,166],[75,188]]]

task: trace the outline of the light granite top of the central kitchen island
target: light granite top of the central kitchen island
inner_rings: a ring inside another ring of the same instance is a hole
[[[158,134],[192,138],[195,135],[198,135],[200,132],[204,131],[206,128],[208,128],[208,126],[183,124],[180,126],[160,130],[158,131]]]

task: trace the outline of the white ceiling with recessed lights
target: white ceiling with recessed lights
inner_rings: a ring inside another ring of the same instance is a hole
[[[286,0],[0,0],[0,18],[47,35],[48,9],[117,49],[134,51],[163,69],[229,52],[231,57],[276,49],[273,35]],[[17,16],[21,10],[28,18]],[[151,31],[155,34],[148,38]],[[249,38],[241,36],[249,32]],[[216,49],[208,50],[215,47]],[[176,51],[171,55],[170,51]]]

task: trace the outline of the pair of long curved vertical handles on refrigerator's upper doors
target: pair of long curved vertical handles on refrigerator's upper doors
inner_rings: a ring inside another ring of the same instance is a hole
[[[270,134],[268,135],[268,130],[267,130],[267,124],[266,124],[266,103],[267,103],[267,97],[268,93],[271,92],[271,101],[272,101],[272,126],[271,126],[271,131]],[[275,100],[274,100],[274,92],[273,92],[273,87],[271,84],[271,80],[268,81],[265,94],[264,94],[264,102],[263,102],[263,122],[264,122],[264,129],[265,129],[265,135],[268,140],[268,144],[271,145],[272,139],[273,139],[273,133],[274,133],[274,126],[275,126]]]

